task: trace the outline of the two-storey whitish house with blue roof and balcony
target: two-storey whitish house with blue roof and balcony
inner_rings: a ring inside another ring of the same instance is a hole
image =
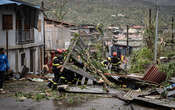
[[[39,73],[43,65],[43,13],[19,0],[0,0],[0,47],[6,49],[10,68]]]

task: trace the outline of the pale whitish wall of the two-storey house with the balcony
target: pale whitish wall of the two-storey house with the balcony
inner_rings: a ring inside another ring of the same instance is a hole
[[[44,17],[43,14],[40,12],[39,19],[41,20],[41,32],[34,29],[34,43],[24,44],[24,45],[17,45],[16,44],[16,13],[11,7],[10,9],[0,9],[0,47],[6,48],[6,31],[2,29],[2,15],[12,14],[13,15],[13,29],[8,30],[8,59],[10,68],[14,72],[21,72],[23,66],[21,65],[21,54],[25,53],[25,65],[30,68],[30,49],[33,48],[34,56],[33,65],[34,65],[34,73],[41,71],[41,62],[43,62],[44,58],[40,58],[40,48],[43,48],[43,30],[44,30]],[[24,25],[24,24],[23,24]],[[43,49],[42,49],[43,50]],[[30,70],[30,69],[29,69]]]

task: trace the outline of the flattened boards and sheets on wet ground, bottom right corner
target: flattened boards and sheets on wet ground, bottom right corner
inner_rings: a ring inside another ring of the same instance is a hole
[[[145,104],[147,106],[156,106],[161,107],[162,109],[174,109],[175,102],[168,99],[160,99],[160,95],[148,95],[151,94],[148,91],[135,93],[136,91],[128,91],[127,93],[115,94],[113,97],[116,97],[120,100],[125,101],[126,103],[137,103]]]

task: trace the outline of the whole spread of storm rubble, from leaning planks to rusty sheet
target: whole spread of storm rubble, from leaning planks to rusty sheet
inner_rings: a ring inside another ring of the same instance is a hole
[[[171,86],[162,87],[161,83],[166,80],[166,74],[160,72],[156,65],[151,65],[144,75],[108,73],[100,60],[93,57],[90,48],[80,35],[72,40],[61,68],[61,72],[64,71],[69,77],[71,76],[71,79],[78,80],[72,85],[59,85],[58,90],[68,93],[107,94],[126,103],[137,102],[165,109],[175,108],[173,101],[175,82],[171,80],[169,83]],[[53,75],[26,77],[31,81],[42,82],[52,78],[51,76],[53,77]]]

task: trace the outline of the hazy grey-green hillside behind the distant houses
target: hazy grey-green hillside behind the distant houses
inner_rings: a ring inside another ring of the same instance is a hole
[[[34,4],[40,4],[40,0],[25,0]],[[56,0],[45,0],[45,7],[49,9],[46,14],[49,18],[56,19],[55,6],[49,5]],[[153,0],[69,0],[66,5],[67,14],[64,21],[70,23],[103,23],[104,25],[143,25],[148,15],[148,9],[152,8],[153,16],[155,5]],[[170,16],[174,14],[175,1],[159,0],[161,24],[167,25]]]

